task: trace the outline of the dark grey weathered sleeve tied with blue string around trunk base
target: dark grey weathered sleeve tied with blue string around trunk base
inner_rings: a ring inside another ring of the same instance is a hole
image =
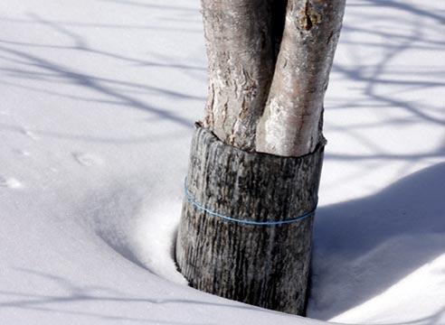
[[[324,144],[301,157],[248,153],[197,126],[175,251],[191,286],[276,311],[304,312]],[[252,226],[210,210],[256,222],[310,213],[288,224]]]

